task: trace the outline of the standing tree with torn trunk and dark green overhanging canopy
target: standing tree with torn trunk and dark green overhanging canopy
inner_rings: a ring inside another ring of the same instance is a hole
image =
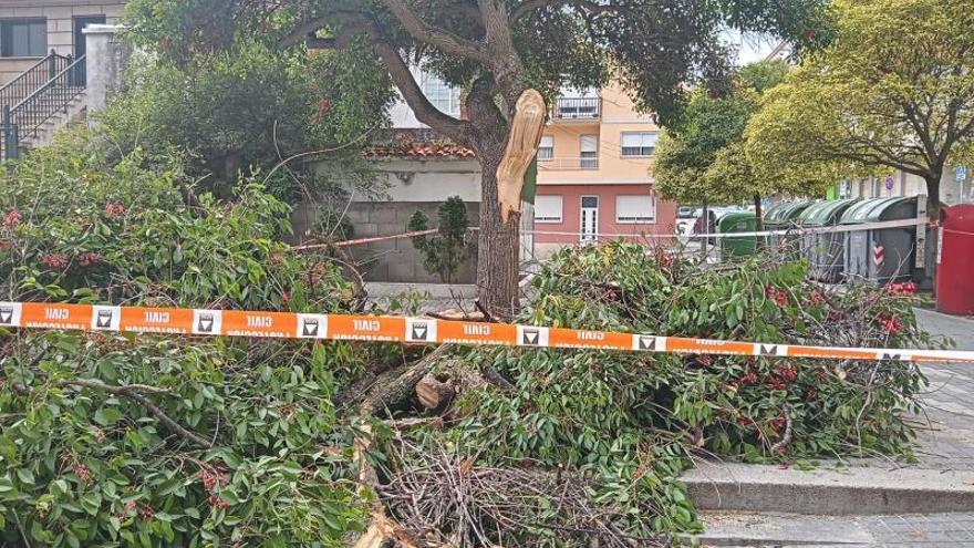
[[[416,116],[473,147],[483,173],[478,286],[491,314],[511,314],[518,300],[519,175],[504,177],[511,121],[529,90],[552,96],[563,86],[598,86],[614,77],[645,110],[669,120],[684,99],[683,82],[721,82],[728,28],[828,37],[823,0],[135,0],[135,32],[175,59],[227,48],[261,33],[286,44],[346,49],[363,75],[379,60]],[[815,29],[817,32],[808,32]],[[806,45],[806,43],[802,43]],[[465,117],[439,112],[422,93],[408,61],[465,90]],[[719,84],[715,84],[719,87]],[[521,151],[526,143],[518,143]],[[537,146],[537,143],[533,144]]]

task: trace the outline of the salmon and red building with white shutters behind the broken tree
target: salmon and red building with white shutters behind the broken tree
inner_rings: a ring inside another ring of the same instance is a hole
[[[676,204],[659,199],[649,173],[659,134],[619,86],[555,101],[538,153],[538,258],[618,235],[674,232]]]

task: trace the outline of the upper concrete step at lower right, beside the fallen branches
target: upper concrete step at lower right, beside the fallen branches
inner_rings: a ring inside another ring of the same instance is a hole
[[[853,467],[802,472],[700,462],[681,479],[701,510],[854,516],[971,511],[974,472]]]

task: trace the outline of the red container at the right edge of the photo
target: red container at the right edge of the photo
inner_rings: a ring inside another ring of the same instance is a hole
[[[936,251],[936,309],[974,314],[974,204],[940,211]]]

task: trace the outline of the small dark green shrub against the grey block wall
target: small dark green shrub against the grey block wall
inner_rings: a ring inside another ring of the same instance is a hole
[[[436,236],[414,236],[413,246],[423,252],[423,265],[429,273],[436,273],[444,283],[452,283],[460,266],[473,257],[476,246],[467,231],[467,205],[463,198],[453,196],[439,205],[439,228]],[[429,219],[416,211],[410,219],[410,231],[429,228]]]

